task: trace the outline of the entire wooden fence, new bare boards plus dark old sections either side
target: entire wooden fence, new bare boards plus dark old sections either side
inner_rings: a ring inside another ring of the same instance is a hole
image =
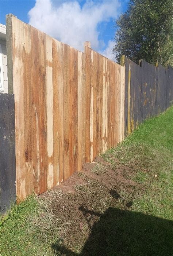
[[[14,15],[6,25],[11,94],[0,95],[3,207],[15,190],[22,200],[68,179],[172,103],[171,67],[127,58],[118,65],[89,43],[77,51]]]

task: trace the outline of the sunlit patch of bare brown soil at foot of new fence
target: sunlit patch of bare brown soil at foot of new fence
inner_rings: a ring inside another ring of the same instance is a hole
[[[42,194],[50,201],[48,210],[59,223],[59,239],[51,245],[55,255],[97,255],[91,250],[98,235],[93,227],[109,209],[129,209],[144,189],[129,179],[134,169],[132,165],[118,164],[114,170],[97,157],[91,164],[85,164],[81,172],[54,187],[53,194]],[[95,239],[88,243],[91,234]],[[104,244],[106,234],[104,237],[102,232],[98,239]]]

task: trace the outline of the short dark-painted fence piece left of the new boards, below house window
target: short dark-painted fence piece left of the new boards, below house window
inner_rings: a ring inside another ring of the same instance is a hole
[[[14,95],[0,94],[0,212],[16,200]]]

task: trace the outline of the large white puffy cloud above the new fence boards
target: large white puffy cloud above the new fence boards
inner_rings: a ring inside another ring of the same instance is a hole
[[[86,0],[82,7],[73,0],[58,1],[58,4],[52,0],[36,0],[28,12],[29,24],[80,51],[83,51],[85,41],[90,41],[91,47],[98,51],[103,41],[99,40],[97,26],[116,18],[119,7],[119,0]]]

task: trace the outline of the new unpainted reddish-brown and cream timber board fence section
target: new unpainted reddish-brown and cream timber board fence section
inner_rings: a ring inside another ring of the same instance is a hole
[[[66,180],[123,139],[125,67],[10,15],[7,30],[16,191],[23,199]]]

